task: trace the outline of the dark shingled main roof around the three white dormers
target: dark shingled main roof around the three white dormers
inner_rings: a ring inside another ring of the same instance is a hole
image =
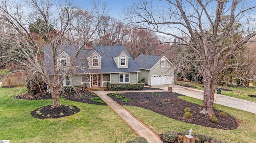
[[[50,45],[45,46],[45,52],[50,55],[52,58]],[[70,56],[72,59],[74,57],[75,52],[78,49],[78,46],[75,45],[62,45],[58,47],[59,52],[63,51]],[[86,57],[90,57],[94,52],[97,52],[101,59],[102,65],[101,69],[89,69],[88,61]],[[128,55],[129,68],[119,68],[116,66],[116,63],[113,57],[118,57],[120,54],[124,52]],[[48,68],[48,74],[53,74],[51,69],[52,62],[51,60],[45,56],[44,63],[46,68]],[[128,53],[125,46],[122,45],[94,45],[92,49],[82,49],[78,54],[78,57],[75,61],[75,66],[77,67],[73,70],[73,74],[83,74],[83,73],[118,73],[118,72],[139,72],[139,69],[136,63],[132,60],[132,57]]]

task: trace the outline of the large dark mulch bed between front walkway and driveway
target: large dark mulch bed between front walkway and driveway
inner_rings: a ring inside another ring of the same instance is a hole
[[[125,98],[131,99],[130,102],[123,102],[121,99],[116,99],[116,96],[111,96],[120,105],[138,106],[179,121],[226,130],[236,129],[238,126],[233,116],[229,114],[227,118],[219,116],[220,110],[215,111],[218,123],[210,121],[208,115],[199,113],[202,110],[202,106],[177,98],[178,96],[183,96],[181,94],[169,92],[132,92],[120,93],[119,95],[124,95]],[[192,119],[184,118],[183,110],[186,107],[192,110]]]

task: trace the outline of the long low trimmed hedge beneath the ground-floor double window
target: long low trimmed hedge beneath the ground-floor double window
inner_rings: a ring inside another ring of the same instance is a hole
[[[143,90],[144,83],[128,84],[128,83],[111,83],[111,90]]]

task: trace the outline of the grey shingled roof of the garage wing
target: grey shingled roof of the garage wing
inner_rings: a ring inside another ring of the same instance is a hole
[[[163,56],[139,55],[134,61],[138,68],[150,70]]]

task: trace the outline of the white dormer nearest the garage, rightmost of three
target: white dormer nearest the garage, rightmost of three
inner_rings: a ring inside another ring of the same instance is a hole
[[[113,57],[113,59],[118,69],[129,67],[129,57],[126,55],[126,53],[122,52],[118,57]]]

